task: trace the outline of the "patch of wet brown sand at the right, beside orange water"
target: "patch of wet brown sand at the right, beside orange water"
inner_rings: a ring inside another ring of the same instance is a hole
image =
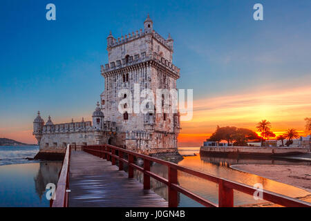
[[[232,165],[232,169],[290,184],[311,193],[311,166],[303,165]]]

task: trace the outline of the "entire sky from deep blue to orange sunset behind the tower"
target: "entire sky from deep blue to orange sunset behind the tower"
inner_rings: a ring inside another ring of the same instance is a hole
[[[55,3],[57,21],[47,21]],[[262,3],[264,21],[254,21]],[[106,37],[153,28],[174,39],[178,88],[194,89],[194,117],[180,146],[199,146],[219,126],[304,135],[311,117],[311,1],[34,1],[0,6],[0,137],[35,143],[41,111],[54,123],[91,119],[104,79]]]

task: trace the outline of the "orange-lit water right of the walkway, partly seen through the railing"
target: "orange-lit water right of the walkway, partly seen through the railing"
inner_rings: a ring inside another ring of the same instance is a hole
[[[191,149],[183,150],[187,151],[185,155],[194,154],[196,151],[192,151]],[[287,160],[274,160],[274,159],[229,159],[222,157],[201,157],[199,154],[194,156],[184,157],[183,160],[178,162],[181,166],[187,166],[191,169],[196,169],[199,171],[203,171],[205,173],[209,173],[211,175],[216,175],[218,177],[224,177],[229,180],[233,180],[236,182],[241,182],[243,184],[248,184],[250,186],[254,186],[256,183],[263,184],[263,188],[268,191],[274,191],[275,193],[280,193],[283,195],[288,195],[292,198],[301,197],[305,195],[309,195],[310,192],[305,191],[303,189],[299,189],[294,186],[290,186],[288,184],[283,184],[280,182],[276,182],[274,180],[269,180],[264,177],[260,177],[258,175],[253,175],[249,173],[243,173],[240,171],[236,171],[231,169],[229,166],[232,164],[303,164],[310,165],[310,162],[289,162]],[[163,166],[161,164],[151,164],[151,171],[156,173],[162,177],[167,178],[167,166]],[[143,175],[139,171],[135,171],[135,177],[143,182]],[[178,171],[178,183],[180,186],[193,191],[194,193],[211,200],[211,202],[218,203],[218,184],[213,182],[209,182],[207,180],[203,180],[198,177],[194,177],[193,175],[189,175],[187,173],[182,173]],[[161,195],[164,199],[167,198],[167,186],[154,180],[151,178],[151,189],[153,189],[156,193]],[[201,206],[194,200],[187,198],[185,195],[178,193],[179,195],[179,203],[178,206]],[[234,205],[243,205],[243,204],[256,204],[265,202],[263,200],[254,200],[252,195],[247,195],[245,193],[241,193],[238,191],[234,191]]]

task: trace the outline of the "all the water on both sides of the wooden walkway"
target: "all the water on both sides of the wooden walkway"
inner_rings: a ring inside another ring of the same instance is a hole
[[[39,151],[37,146],[27,147],[0,147],[0,206],[49,206],[46,200],[46,184],[57,183],[58,173],[62,162],[38,162],[28,161],[25,157],[34,157]],[[232,160],[216,157],[200,157],[199,148],[179,148],[182,155],[195,156],[185,157],[178,162],[182,166],[187,166],[200,171],[205,171],[216,176],[225,177],[237,182],[254,185],[262,183],[264,189],[298,197],[310,194],[308,191],[274,182],[257,175],[243,173],[231,169],[231,164],[293,164],[283,160]],[[296,164],[296,163],[294,163]],[[302,162],[299,164],[303,164]],[[167,168],[160,164],[153,164],[151,171],[167,177]],[[135,177],[142,181],[142,174],[135,172]],[[202,180],[186,173],[178,173],[178,182],[181,186],[194,191],[212,202],[218,202],[218,186],[212,182]],[[167,187],[151,178],[151,186],[162,197],[167,199]],[[244,193],[234,193],[235,205],[257,203],[252,196]],[[200,204],[179,195],[179,206],[200,206]]]

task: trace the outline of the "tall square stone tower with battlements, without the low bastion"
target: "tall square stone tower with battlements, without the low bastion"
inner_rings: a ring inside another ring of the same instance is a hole
[[[148,15],[144,21],[144,31],[140,29],[117,39],[110,32],[107,51],[109,64],[102,66],[104,92],[101,94],[101,108],[107,121],[116,122],[117,138],[114,145],[146,154],[177,151],[180,131],[178,113],[158,113],[156,104],[153,106],[149,103],[146,104],[147,113],[118,111],[121,100],[129,96],[124,94],[120,97],[122,89],[131,92],[132,105],[137,86],[140,91],[151,90],[156,102],[164,97],[157,97],[157,89],[176,89],[180,69],[173,65],[171,35],[167,39],[161,37],[153,30],[153,21]],[[138,99],[140,104],[144,100],[142,97]],[[128,108],[131,105],[122,106]]]

